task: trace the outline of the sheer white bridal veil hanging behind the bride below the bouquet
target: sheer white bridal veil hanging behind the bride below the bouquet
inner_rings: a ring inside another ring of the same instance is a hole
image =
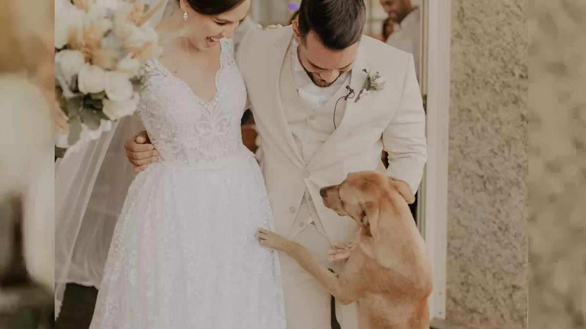
[[[114,9],[119,0],[97,0]],[[174,0],[141,0],[156,27],[176,8]],[[98,287],[118,215],[134,173],[123,143],[144,130],[137,115],[55,162],[55,318],[67,283]]]

